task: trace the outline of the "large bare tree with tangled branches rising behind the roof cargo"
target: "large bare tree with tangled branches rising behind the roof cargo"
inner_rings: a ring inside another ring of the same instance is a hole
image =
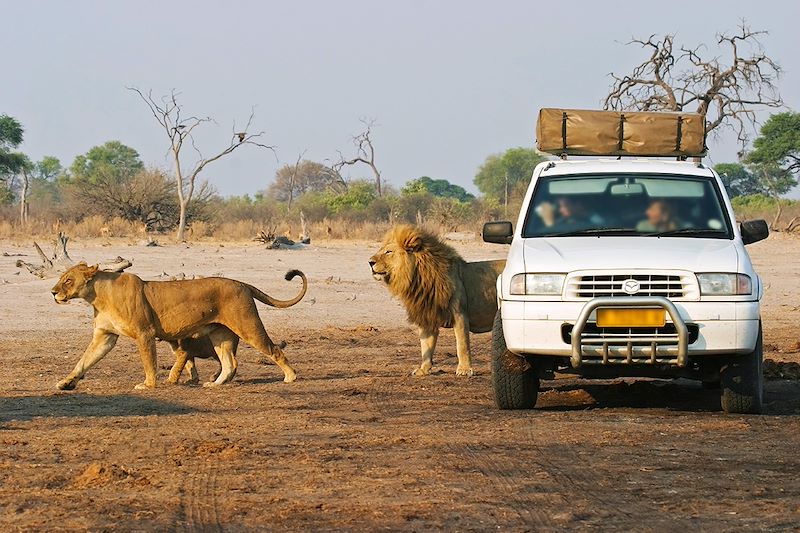
[[[717,45],[727,50],[727,63],[706,57],[704,46],[675,50],[675,35],[658,39],[632,39],[650,51],[650,57],[630,74],[611,73],[614,84],[605,98],[606,109],[641,111],[694,111],[706,116],[706,130],[719,127],[736,132],[742,149],[756,124],[758,107],[781,107],[775,85],[781,68],[764,53],[759,37],[743,22],[738,33],[717,35]]]

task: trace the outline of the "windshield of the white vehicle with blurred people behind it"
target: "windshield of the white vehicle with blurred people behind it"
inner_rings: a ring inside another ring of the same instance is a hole
[[[540,177],[523,237],[733,238],[712,178],[664,174]]]

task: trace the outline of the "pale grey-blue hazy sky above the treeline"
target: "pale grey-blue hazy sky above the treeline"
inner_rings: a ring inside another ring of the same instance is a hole
[[[428,175],[475,192],[487,155],[533,146],[540,107],[598,108],[608,73],[644,58],[624,46],[632,36],[713,43],[742,19],[769,31],[782,96],[800,108],[797,0],[0,0],[0,17],[0,114],[23,124],[24,152],[68,166],[114,139],[168,168],[165,134],[129,85],[176,89],[186,113],[213,117],[197,138],[205,154],[256,106],[254,129],[277,161],[244,147],[210,165],[203,177],[223,195],[265,189],[303,150],[317,161],[351,154],[361,117],[377,121],[389,184]],[[710,148],[709,163],[736,158],[730,133]]]

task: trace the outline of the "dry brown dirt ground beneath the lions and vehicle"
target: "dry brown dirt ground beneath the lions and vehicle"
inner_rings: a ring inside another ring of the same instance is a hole
[[[91,310],[57,306],[53,280],[14,266],[30,243],[0,242],[0,530],[775,531],[800,527],[800,382],[769,381],[766,414],[726,416],[688,381],[558,379],[539,405],[492,404],[489,336],[478,375],[418,379],[418,341],[369,275],[376,243],[268,251],[254,243],[148,248],[75,242],[74,259],[132,259],[147,279],[223,274],[297,306],[260,306],[298,371],[293,384],[240,349],[233,383],[134,391],[121,340],[72,392],[55,390],[90,339]],[[504,247],[456,243],[467,258]],[[767,357],[798,361],[800,240],[751,247],[769,285]],[[296,283],[297,280],[295,280]],[[200,361],[201,378],[214,370]]]

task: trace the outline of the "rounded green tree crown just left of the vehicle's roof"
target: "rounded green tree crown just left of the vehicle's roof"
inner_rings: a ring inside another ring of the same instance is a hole
[[[510,148],[493,154],[478,169],[474,183],[488,198],[505,201],[508,196],[520,195],[533,176],[533,169],[545,158],[531,148]]]

